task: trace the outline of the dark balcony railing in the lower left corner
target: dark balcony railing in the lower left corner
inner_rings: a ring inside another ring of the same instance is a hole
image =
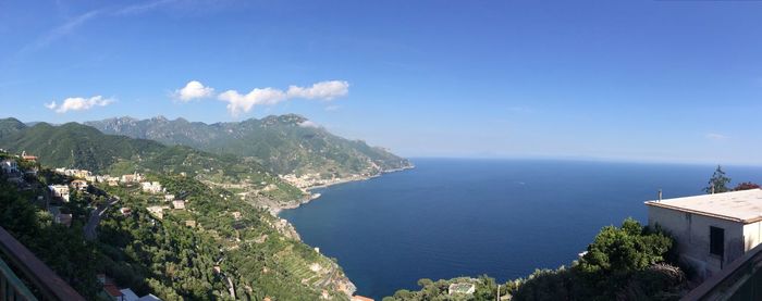
[[[8,264],[0,260],[0,301],[37,300],[32,291],[38,293],[44,300],[85,300],[2,227],[0,227],[0,251],[8,260]],[[21,274],[19,276],[30,284],[32,289],[13,271],[17,271]]]

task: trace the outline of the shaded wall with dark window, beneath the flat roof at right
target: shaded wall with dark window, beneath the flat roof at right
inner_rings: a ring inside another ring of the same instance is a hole
[[[649,226],[660,225],[669,231],[677,242],[680,260],[690,264],[702,278],[720,272],[723,266],[743,255],[750,249],[750,243],[760,239],[759,225],[753,233],[755,240],[747,241],[745,233],[751,235],[752,228],[746,228],[739,222],[652,205],[648,206],[648,211]],[[725,229],[725,255],[722,259],[709,252],[710,226]]]

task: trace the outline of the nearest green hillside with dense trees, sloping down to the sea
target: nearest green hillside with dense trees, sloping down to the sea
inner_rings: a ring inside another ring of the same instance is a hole
[[[22,162],[23,168],[27,165]],[[335,262],[302,243],[279,218],[226,190],[192,177],[151,175],[187,202],[186,210],[170,209],[157,218],[145,208],[167,205],[163,195],[147,195],[137,186],[90,187],[63,204],[61,210],[73,214],[65,227],[36,200],[46,185],[71,179],[47,170],[39,175],[25,191],[0,176],[0,226],[88,300],[100,291],[98,273],[163,300],[228,300],[231,290],[244,300],[317,300],[323,290],[334,300],[347,299],[339,287],[347,279]],[[97,239],[86,240],[87,216],[111,196],[121,200],[106,211]],[[131,213],[122,214],[120,206]]]

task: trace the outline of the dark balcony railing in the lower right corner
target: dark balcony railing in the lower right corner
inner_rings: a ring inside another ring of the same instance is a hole
[[[762,244],[706,279],[683,300],[762,300]]]

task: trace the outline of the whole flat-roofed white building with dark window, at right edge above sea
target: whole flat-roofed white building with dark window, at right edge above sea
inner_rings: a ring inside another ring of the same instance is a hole
[[[706,278],[762,241],[762,189],[646,202],[649,226],[676,240],[680,260]]]

